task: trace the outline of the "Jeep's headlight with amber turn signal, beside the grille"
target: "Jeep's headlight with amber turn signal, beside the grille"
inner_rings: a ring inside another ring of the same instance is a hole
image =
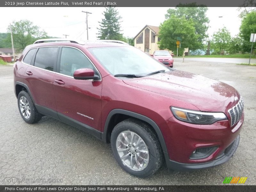
[[[222,112],[201,112],[177,107],[171,107],[171,110],[178,120],[192,124],[213,124],[227,119]]]

